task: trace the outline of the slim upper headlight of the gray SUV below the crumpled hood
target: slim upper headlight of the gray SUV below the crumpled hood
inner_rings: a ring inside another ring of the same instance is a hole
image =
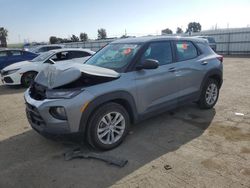
[[[47,90],[46,91],[46,97],[48,99],[70,99],[72,97],[75,97],[79,93],[81,93],[83,89],[77,89],[77,90]]]

